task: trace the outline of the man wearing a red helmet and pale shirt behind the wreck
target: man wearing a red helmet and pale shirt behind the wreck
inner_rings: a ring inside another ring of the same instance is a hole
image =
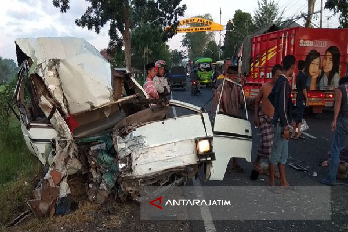
[[[166,62],[163,60],[156,61],[155,69],[157,72],[156,77],[153,79],[153,85],[155,86],[159,97],[166,98],[170,94],[170,88],[166,78],[164,77]]]

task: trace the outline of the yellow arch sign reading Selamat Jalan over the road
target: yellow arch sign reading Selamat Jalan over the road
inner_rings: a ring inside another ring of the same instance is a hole
[[[191,23],[199,23],[199,24],[203,24],[204,26],[179,28],[183,25],[191,24]],[[169,29],[169,27],[166,27],[166,29]],[[221,25],[219,23],[214,23],[213,21],[210,21],[210,20],[205,19],[205,18],[192,17],[192,18],[181,20],[179,22],[179,26],[177,28],[177,33],[222,31],[222,30],[223,30],[223,25]]]

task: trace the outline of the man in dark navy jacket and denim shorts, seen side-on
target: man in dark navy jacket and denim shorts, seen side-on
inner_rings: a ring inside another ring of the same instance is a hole
[[[269,185],[270,190],[280,193],[275,187],[275,166],[278,165],[280,174],[280,188],[294,189],[289,185],[285,176],[285,164],[288,157],[288,140],[290,137],[289,127],[291,126],[291,88],[288,78],[293,74],[295,68],[295,57],[287,55],[283,59],[283,74],[278,80],[271,93],[269,101],[275,108],[272,120],[272,131],[274,133],[272,152],[269,163]]]

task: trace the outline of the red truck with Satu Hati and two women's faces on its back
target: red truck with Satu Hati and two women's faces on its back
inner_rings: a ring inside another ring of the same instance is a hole
[[[281,64],[284,56],[291,54],[296,57],[296,64],[300,60],[306,63],[304,72],[307,75],[309,106],[313,113],[322,113],[324,106],[333,106],[334,89],[338,86],[338,80],[347,73],[348,29],[292,27],[256,35],[248,44],[251,45],[249,53],[243,49],[243,56],[250,54],[250,61],[242,59],[242,52],[238,57],[246,67],[246,97],[256,97],[260,87],[270,81],[272,66]],[[298,72],[296,65],[293,76],[289,78],[294,104]]]

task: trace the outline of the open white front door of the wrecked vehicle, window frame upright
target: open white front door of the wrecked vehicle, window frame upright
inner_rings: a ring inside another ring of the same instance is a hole
[[[243,87],[225,78],[213,120],[215,160],[211,180],[222,181],[231,158],[251,160],[251,125]]]

